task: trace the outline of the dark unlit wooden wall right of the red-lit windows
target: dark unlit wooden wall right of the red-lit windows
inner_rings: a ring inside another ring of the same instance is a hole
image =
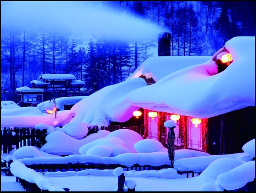
[[[255,138],[255,129],[255,106],[208,118],[208,153],[243,152],[243,145]]]

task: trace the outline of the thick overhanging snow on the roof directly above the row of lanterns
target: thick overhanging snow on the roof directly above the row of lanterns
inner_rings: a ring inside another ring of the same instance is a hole
[[[255,106],[255,37],[234,37],[225,47],[234,62],[223,72],[216,74],[216,62],[209,59],[135,89],[126,95],[127,100],[153,111],[196,118]]]

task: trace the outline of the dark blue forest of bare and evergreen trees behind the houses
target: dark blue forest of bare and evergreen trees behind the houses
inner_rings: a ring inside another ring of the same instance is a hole
[[[166,26],[171,56],[212,56],[235,36],[255,36],[254,1],[103,1],[102,6]],[[75,29],[74,29],[75,31]],[[93,36],[78,46],[74,32],[1,26],[1,90],[30,86],[41,74],[73,74],[99,90],[125,80],[158,46],[154,39]],[[157,50],[157,49],[156,49]]]

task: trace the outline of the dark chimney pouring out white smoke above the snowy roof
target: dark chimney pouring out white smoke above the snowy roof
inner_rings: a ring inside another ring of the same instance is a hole
[[[158,34],[158,56],[171,56],[171,33]]]

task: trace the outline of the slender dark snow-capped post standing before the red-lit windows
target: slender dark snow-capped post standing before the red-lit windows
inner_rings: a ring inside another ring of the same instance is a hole
[[[166,128],[169,128],[168,131],[168,138],[167,138],[167,150],[168,150],[168,155],[169,155],[169,160],[171,162],[171,168],[174,168],[174,150],[175,150],[175,133],[174,133],[174,128],[175,126],[175,121],[169,120],[164,122],[164,126]]]

